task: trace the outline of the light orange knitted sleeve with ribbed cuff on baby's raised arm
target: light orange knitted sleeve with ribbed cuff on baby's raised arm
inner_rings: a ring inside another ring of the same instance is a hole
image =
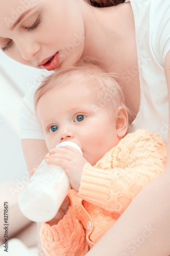
[[[85,164],[78,194],[117,214],[166,164],[166,145],[158,135],[138,130],[127,136],[94,167]]]

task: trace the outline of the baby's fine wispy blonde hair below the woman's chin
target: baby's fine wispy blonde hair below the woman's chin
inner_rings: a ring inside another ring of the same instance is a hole
[[[62,68],[46,77],[35,92],[35,110],[40,97],[54,87],[64,86],[64,84],[68,83],[70,86],[71,83],[79,86],[79,83],[88,83],[88,81],[92,81],[94,84],[92,93],[98,100],[98,105],[103,108],[109,108],[111,117],[113,117],[114,111],[118,106],[123,106],[128,114],[130,114],[123,91],[115,80],[115,74],[108,73],[89,61],[79,62],[75,66]]]

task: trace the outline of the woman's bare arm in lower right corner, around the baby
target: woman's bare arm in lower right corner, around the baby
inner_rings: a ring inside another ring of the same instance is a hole
[[[165,58],[164,71],[170,102],[170,52]],[[164,172],[138,194],[113,227],[86,255],[168,256],[170,254],[169,195],[170,131],[168,131],[167,164]]]

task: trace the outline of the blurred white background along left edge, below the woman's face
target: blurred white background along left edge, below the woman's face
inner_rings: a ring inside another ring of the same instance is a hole
[[[20,104],[39,73],[0,51],[0,182],[26,176],[19,138]]]

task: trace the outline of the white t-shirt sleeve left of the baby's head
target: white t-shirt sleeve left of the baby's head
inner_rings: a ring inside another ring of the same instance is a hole
[[[20,139],[42,139],[41,125],[34,110],[34,91],[29,91],[23,98],[20,109]]]

